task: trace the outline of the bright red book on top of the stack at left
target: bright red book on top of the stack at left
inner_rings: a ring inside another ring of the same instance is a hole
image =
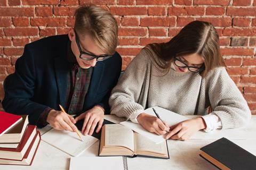
[[[11,113],[0,112],[0,136],[20,122],[22,117]]]

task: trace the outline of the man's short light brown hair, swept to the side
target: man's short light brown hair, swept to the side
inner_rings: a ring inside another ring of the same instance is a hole
[[[114,16],[98,6],[81,6],[75,11],[78,35],[89,33],[106,54],[114,54],[117,46],[117,23]]]

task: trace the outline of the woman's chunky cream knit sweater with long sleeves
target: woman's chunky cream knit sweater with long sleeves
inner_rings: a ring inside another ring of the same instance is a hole
[[[111,92],[111,114],[129,119],[139,110],[159,106],[181,115],[193,115],[199,96],[197,114],[207,114],[211,105],[212,113],[220,117],[222,129],[238,128],[250,121],[251,111],[224,67],[212,70],[204,79],[199,73],[172,69],[165,74],[153,57],[156,55],[142,49],[127,66]]]

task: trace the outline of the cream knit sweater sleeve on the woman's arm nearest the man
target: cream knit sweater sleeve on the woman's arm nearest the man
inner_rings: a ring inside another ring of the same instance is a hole
[[[125,117],[128,120],[133,113],[144,109],[138,102],[140,95],[143,95],[145,88],[143,86],[149,79],[149,75],[146,74],[149,65],[147,55],[145,50],[142,49],[127,66],[116,87],[111,92],[109,98],[110,114]]]

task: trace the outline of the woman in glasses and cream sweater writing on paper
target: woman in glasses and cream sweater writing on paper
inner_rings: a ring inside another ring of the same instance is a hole
[[[109,104],[126,117],[166,139],[186,140],[204,129],[238,128],[251,112],[231,80],[209,22],[193,21],[167,43],[149,44],[132,60]],[[202,115],[169,127],[144,109],[159,106],[181,115]],[[210,114],[209,108],[212,108]]]

